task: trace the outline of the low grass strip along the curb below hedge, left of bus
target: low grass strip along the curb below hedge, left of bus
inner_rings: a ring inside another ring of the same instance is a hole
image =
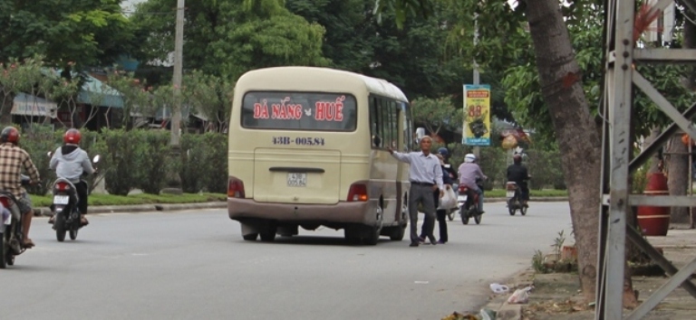
[[[51,195],[31,195],[34,207],[48,207],[53,198]],[[184,193],[184,194],[130,194],[128,196],[113,194],[90,194],[90,205],[128,205],[128,204],[149,204],[149,203],[196,203],[196,202],[215,202],[225,201],[227,194],[224,193]]]

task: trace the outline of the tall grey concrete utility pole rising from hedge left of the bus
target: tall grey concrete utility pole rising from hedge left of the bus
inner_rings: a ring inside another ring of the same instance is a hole
[[[184,0],[177,0],[177,26],[174,39],[174,75],[172,82],[174,85],[174,106],[171,108],[171,122],[169,123],[171,147],[169,156],[170,164],[174,164],[179,157],[179,130],[181,127],[181,77],[183,73],[183,51],[184,51]],[[167,188],[162,189],[161,193],[181,194],[181,177],[176,168],[171,165],[167,174]]]

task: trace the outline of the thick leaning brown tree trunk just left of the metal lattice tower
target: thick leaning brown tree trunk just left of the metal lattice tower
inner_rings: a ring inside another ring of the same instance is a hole
[[[580,283],[586,301],[595,301],[602,169],[602,139],[590,114],[581,73],[555,0],[527,2],[527,22],[534,41],[542,94],[554,122],[568,186],[570,214],[578,253]],[[627,273],[626,273],[627,274]],[[626,300],[635,301],[630,278]]]

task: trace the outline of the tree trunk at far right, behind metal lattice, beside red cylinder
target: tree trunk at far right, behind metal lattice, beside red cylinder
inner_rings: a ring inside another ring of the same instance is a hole
[[[689,179],[689,149],[681,142],[681,134],[672,136],[667,148],[667,186],[671,195],[685,195]],[[691,223],[688,207],[672,207],[670,223]]]

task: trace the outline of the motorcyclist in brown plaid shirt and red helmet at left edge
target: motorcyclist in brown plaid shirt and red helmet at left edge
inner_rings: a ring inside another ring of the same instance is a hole
[[[0,132],[0,190],[12,193],[16,198],[17,208],[22,214],[22,245],[24,248],[32,248],[34,241],[29,238],[29,228],[34,210],[29,194],[22,187],[22,169],[29,175],[29,184],[40,182],[39,172],[31,156],[19,147],[19,131],[15,127],[5,127]]]

